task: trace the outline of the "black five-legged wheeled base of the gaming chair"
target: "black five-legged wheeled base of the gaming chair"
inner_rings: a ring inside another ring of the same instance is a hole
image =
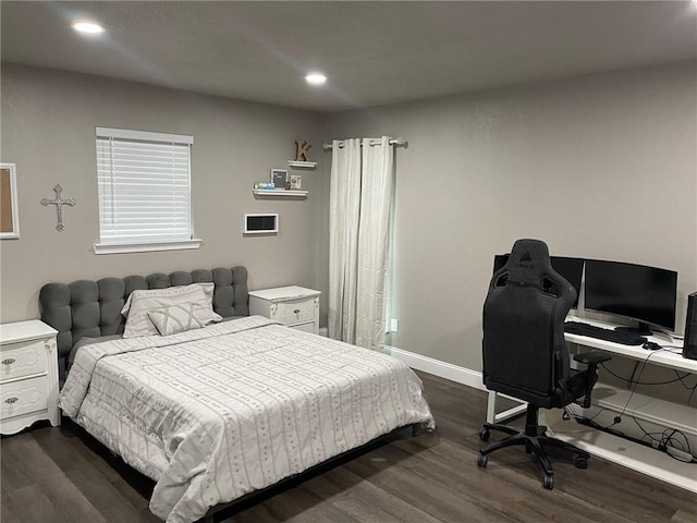
[[[516,445],[524,446],[525,452],[527,452],[528,454],[534,453],[540,465],[542,466],[542,470],[545,471],[542,486],[550,490],[554,488],[554,470],[552,469],[552,464],[547,457],[547,451],[545,450],[546,448],[561,449],[563,451],[570,452],[574,454],[574,464],[577,469],[587,469],[590,454],[574,445],[562,441],[561,439],[550,437],[547,434],[547,427],[543,425],[538,425],[537,414],[538,409],[534,405],[528,404],[527,421],[525,423],[524,433],[509,425],[485,423],[484,428],[479,431],[479,437],[482,440],[487,441],[489,439],[491,430],[499,430],[501,433],[508,434],[509,437],[502,439],[501,441],[494,441],[487,448],[481,449],[479,451],[479,457],[477,458],[477,465],[480,467],[486,467],[488,455],[499,449]]]

